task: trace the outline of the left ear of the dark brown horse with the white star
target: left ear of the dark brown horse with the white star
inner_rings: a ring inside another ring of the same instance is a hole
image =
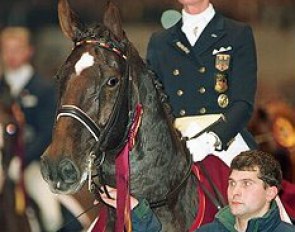
[[[80,22],[67,0],[58,0],[58,19],[65,36],[74,41]]]

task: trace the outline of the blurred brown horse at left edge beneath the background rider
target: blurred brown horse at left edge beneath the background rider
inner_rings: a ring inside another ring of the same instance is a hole
[[[19,126],[15,119],[16,105],[8,96],[0,99],[0,231],[31,232],[32,224],[26,212],[26,195],[22,182],[9,176],[11,160],[20,152]]]

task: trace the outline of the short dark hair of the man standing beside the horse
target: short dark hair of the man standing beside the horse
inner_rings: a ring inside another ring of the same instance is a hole
[[[258,171],[258,178],[266,185],[276,186],[281,189],[282,169],[273,155],[258,151],[244,151],[236,156],[230,165],[230,169],[238,171]]]

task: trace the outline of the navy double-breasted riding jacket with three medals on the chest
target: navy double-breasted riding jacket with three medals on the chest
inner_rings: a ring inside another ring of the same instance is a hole
[[[182,20],[154,33],[147,50],[148,65],[162,82],[174,116],[223,113],[226,121],[212,129],[223,148],[239,132],[250,148],[256,147],[245,130],[257,85],[252,29],[216,13],[191,47],[181,26]]]

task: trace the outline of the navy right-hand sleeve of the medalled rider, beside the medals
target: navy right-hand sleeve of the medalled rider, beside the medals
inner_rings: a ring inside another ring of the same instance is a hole
[[[232,104],[225,112],[225,121],[212,131],[227,148],[237,133],[245,128],[252,116],[257,88],[257,58],[252,30],[249,26],[236,37],[237,48],[233,55],[231,75]]]

